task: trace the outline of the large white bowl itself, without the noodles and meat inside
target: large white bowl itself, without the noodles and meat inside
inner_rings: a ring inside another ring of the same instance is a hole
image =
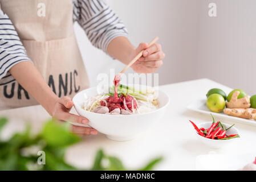
[[[154,123],[160,122],[160,118],[164,115],[169,104],[169,97],[164,92],[159,91],[158,101],[160,108],[151,113],[134,115],[97,114],[82,109],[85,100],[84,93],[87,96],[95,96],[97,91],[96,88],[89,88],[76,94],[73,98],[76,111],[79,115],[89,119],[89,126],[105,134],[107,138],[116,141],[132,140]]]

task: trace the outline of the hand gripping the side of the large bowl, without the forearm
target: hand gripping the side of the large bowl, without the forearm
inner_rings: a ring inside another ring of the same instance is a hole
[[[70,113],[70,110],[73,105],[74,103],[71,101],[70,97],[66,96],[59,98],[59,100],[55,102],[54,107],[52,109],[52,117],[59,119],[60,121],[70,121],[74,123],[87,125],[89,122],[87,118]],[[71,130],[73,133],[78,134],[82,137],[86,135],[97,134],[97,130],[92,129],[91,127],[71,125]]]

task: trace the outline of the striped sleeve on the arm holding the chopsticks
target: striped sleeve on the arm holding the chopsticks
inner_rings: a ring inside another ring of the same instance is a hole
[[[73,0],[77,20],[91,43],[107,53],[108,44],[117,36],[127,36],[120,18],[104,0]]]

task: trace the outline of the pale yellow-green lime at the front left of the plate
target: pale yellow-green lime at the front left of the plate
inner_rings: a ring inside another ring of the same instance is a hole
[[[220,94],[214,93],[208,97],[206,105],[211,111],[221,113],[226,106],[226,102]]]

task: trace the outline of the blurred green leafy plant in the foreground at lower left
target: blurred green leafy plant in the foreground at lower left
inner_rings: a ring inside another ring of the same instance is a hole
[[[0,132],[7,123],[6,118],[0,118]],[[81,138],[72,134],[68,123],[60,125],[51,119],[46,122],[42,131],[32,136],[28,125],[23,133],[15,133],[9,140],[0,138],[0,170],[83,170],[78,169],[64,160],[67,147],[80,142]],[[38,151],[45,152],[45,164],[38,164]],[[107,160],[107,166],[104,166]],[[156,158],[139,170],[152,170],[162,158]],[[126,170],[121,160],[115,156],[104,154],[98,150],[90,170]]]

